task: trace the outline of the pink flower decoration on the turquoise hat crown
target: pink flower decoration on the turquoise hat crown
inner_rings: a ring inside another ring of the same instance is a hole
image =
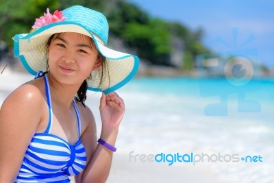
[[[55,10],[55,12],[51,14],[49,12],[49,8],[47,8],[47,14],[44,13],[44,15],[45,16],[41,16],[39,19],[36,19],[30,32],[34,32],[36,29],[44,25],[48,25],[49,23],[62,22],[66,19],[66,17],[62,17],[63,16],[62,11]]]

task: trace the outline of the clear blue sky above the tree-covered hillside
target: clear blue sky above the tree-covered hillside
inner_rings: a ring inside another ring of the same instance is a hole
[[[216,53],[254,49],[261,64],[274,68],[273,0],[127,1],[153,18],[202,28],[203,45]]]

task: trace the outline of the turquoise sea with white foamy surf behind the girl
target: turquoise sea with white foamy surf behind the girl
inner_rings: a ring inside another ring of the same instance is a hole
[[[0,75],[0,102],[31,77]],[[166,169],[204,168],[229,182],[274,182],[273,77],[135,77],[116,92],[126,106],[116,153],[152,154],[147,161]],[[88,92],[86,100],[98,132],[100,97]]]

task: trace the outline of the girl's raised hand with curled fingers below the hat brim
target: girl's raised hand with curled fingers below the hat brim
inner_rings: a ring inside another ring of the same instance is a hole
[[[115,92],[105,95],[100,100],[102,127],[108,130],[118,130],[125,113],[125,103]],[[108,131],[107,130],[107,131]]]

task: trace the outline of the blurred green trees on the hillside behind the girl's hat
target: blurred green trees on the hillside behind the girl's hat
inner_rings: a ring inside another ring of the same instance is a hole
[[[35,18],[42,16],[47,8],[53,12],[75,4],[103,12],[110,25],[110,37],[123,40],[151,64],[173,65],[173,37],[184,44],[183,69],[193,69],[195,56],[209,52],[201,44],[202,29],[192,32],[180,23],[151,18],[125,0],[0,0],[0,40],[12,47],[11,38],[15,34],[28,33]]]

